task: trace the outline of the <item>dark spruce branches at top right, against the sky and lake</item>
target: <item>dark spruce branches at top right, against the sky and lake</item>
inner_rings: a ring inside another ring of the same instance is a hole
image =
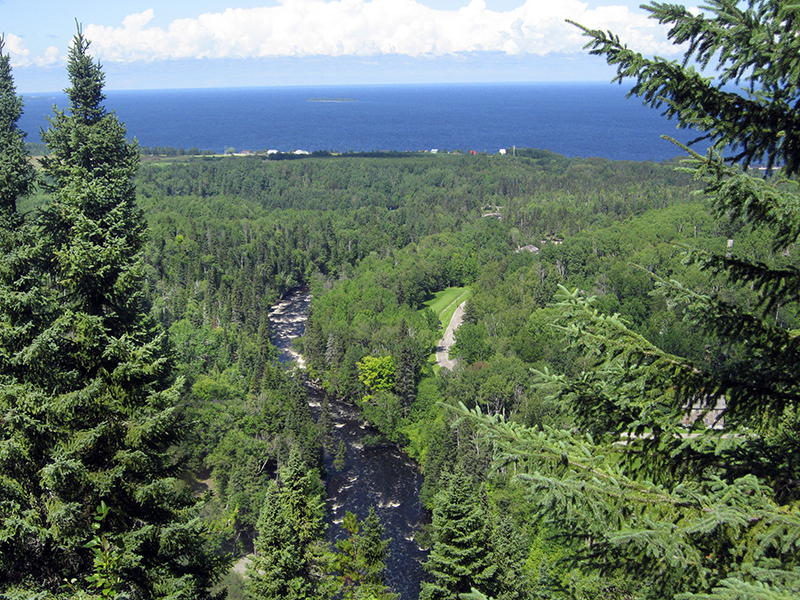
[[[743,6],[744,5],[744,6]],[[646,58],[611,32],[584,30],[590,54],[617,68],[614,81],[635,80],[630,93],[646,105],[666,106],[681,127],[702,132],[721,146],[738,147],[732,157],[748,166],[783,164],[788,175],[800,169],[800,9],[780,0],[709,0],[700,14],[662,2],[643,5],[662,24],[669,39],[687,44],[683,61]],[[694,63],[694,64],[692,64]],[[695,68],[695,65],[698,68]],[[713,67],[715,77],[702,70]],[[744,83],[745,94],[723,89]]]

